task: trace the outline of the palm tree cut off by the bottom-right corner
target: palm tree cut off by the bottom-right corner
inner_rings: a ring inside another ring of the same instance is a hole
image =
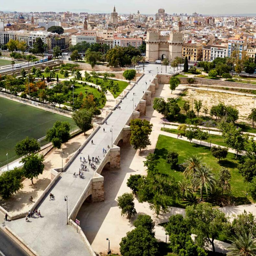
[[[251,233],[242,232],[229,246],[227,256],[256,256],[256,241]]]

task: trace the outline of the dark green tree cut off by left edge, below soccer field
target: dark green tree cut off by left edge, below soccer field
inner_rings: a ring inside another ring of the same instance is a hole
[[[0,198],[5,200],[23,188],[23,171],[20,168],[14,168],[4,171],[0,176]]]

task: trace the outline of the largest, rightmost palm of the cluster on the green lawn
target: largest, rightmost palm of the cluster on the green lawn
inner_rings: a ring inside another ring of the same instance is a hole
[[[204,189],[206,194],[208,193],[208,188],[213,192],[216,185],[216,179],[212,173],[212,169],[207,165],[201,166],[193,176],[192,182],[195,187],[200,187],[201,201],[203,201]]]

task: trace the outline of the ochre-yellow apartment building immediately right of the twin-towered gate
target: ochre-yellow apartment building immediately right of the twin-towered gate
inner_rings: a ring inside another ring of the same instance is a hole
[[[203,58],[203,44],[183,43],[182,57],[187,57],[189,61],[201,61]]]

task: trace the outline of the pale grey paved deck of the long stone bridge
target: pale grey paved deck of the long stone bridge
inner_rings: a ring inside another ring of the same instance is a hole
[[[146,65],[145,76],[129,91],[127,98],[122,100],[121,109],[112,111],[107,124],[101,125],[94,134],[93,144],[89,142],[81,149],[81,154],[72,161],[38,205],[43,217],[29,218],[29,223],[24,218],[8,223],[8,226],[39,255],[90,255],[81,237],[76,234],[76,230],[66,225],[67,213],[64,195],[68,196],[68,213],[70,213],[88,182],[94,176],[94,171],[89,168],[89,171],[84,172],[84,179],[73,177],[73,173],[78,173],[80,168],[80,156],[87,158],[89,154],[90,157],[103,158],[102,148],[111,146],[112,135],[114,141],[160,68],[161,65]],[[149,70],[151,73],[148,72]],[[168,71],[170,72],[171,69]],[[49,201],[50,192],[55,195],[53,201]]]

